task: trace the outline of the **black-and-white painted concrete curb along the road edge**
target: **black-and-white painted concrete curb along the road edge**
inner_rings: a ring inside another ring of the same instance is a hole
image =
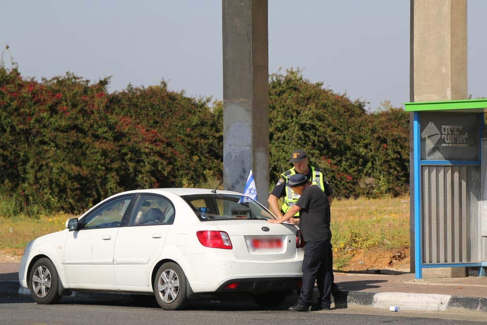
[[[20,287],[18,281],[0,281],[0,297],[28,297],[28,289]],[[87,293],[74,291],[71,297],[96,297],[107,300],[119,300],[124,295],[118,293]],[[318,297],[315,289],[314,296]],[[337,309],[348,306],[369,306],[378,309],[389,309],[390,306],[399,310],[444,311],[464,309],[470,311],[487,311],[487,298],[460,297],[442,294],[402,293],[402,292],[361,292],[340,291],[332,296]],[[315,298],[316,300],[316,298]]]

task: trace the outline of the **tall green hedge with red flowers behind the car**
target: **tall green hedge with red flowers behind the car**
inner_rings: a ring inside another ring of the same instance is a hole
[[[109,82],[72,73],[36,81],[0,65],[0,196],[18,212],[81,212],[119,191],[221,179],[221,102],[210,107],[164,81],[109,94]],[[271,189],[303,148],[337,197],[408,191],[403,110],[369,113],[299,70],[270,75],[269,99]]]

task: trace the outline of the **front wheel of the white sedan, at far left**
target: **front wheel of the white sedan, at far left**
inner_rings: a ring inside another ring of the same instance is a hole
[[[56,304],[59,295],[59,275],[54,263],[43,257],[37,260],[29,274],[31,297],[37,304]]]

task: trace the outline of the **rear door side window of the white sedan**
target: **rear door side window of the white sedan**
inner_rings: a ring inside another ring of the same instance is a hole
[[[155,195],[140,195],[132,211],[129,226],[171,224],[174,207],[169,199]]]

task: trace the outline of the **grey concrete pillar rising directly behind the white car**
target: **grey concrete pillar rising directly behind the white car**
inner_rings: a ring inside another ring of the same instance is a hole
[[[223,0],[223,176],[243,192],[250,169],[259,202],[269,195],[267,0]]]

